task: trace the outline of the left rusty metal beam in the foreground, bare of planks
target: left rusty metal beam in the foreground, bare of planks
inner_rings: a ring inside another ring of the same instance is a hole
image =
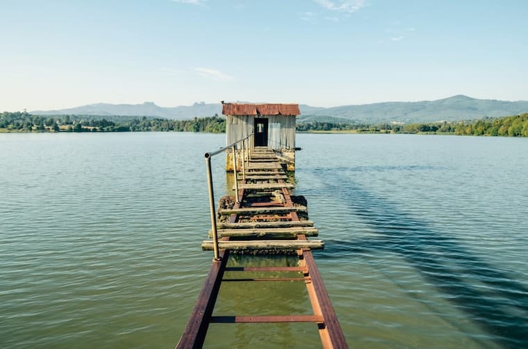
[[[212,248],[213,245],[211,244]],[[176,349],[201,348],[204,345],[211,315],[213,314],[220,284],[224,276],[224,268],[229,258],[229,250],[220,251],[220,257],[222,258],[220,262],[213,260],[213,264],[211,264],[211,269],[207,274],[204,286],[201,287],[195,308],[192,309],[189,321]]]

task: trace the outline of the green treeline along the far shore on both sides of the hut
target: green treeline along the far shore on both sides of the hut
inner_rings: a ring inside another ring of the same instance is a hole
[[[94,117],[90,115],[33,115],[27,112],[2,112],[0,130],[8,132],[207,132],[224,133],[226,121],[214,117],[170,120],[154,117]],[[347,124],[311,121],[297,124],[297,132],[355,133],[431,133],[528,137],[528,113],[512,117],[477,121],[436,122],[429,124]]]

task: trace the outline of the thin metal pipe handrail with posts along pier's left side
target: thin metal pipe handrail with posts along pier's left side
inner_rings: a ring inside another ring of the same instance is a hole
[[[246,176],[245,173],[245,162],[246,162],[246,150],[247,150],[247,162],[249,164],[249,157],[251,156],[251,149],[253,148],[254,144],[254,134],[251,133],[251,135],[248,135],[247,137],[244,137],[242,139],[239,139],[238,141],[229,144],[229,146],[224,146],[223,148],[218,149],[217,151],[211,151],[205,154],[206,157],[206,167],[207,167],[207,186],[209,189],[209,207],[211,209],[211,232],[213,235],[213,250],[215,253],[215,257],[213,260],[219,262],[220,261],[220,254],[218,250],[218,234],[217,234],[217,228],[216,228],[216,212],[215,212],[215,192],[213,190],[213,173],[211,171],[211,158],[213,156],[223,153],[226,150],[232,149],[233,151],[233,175],[235,176],[235,198],[236,203],[239,203],[240,200],[238,198],[238,178],[236,175],[236,148],[239,143],[242,143],[242,176]]]

